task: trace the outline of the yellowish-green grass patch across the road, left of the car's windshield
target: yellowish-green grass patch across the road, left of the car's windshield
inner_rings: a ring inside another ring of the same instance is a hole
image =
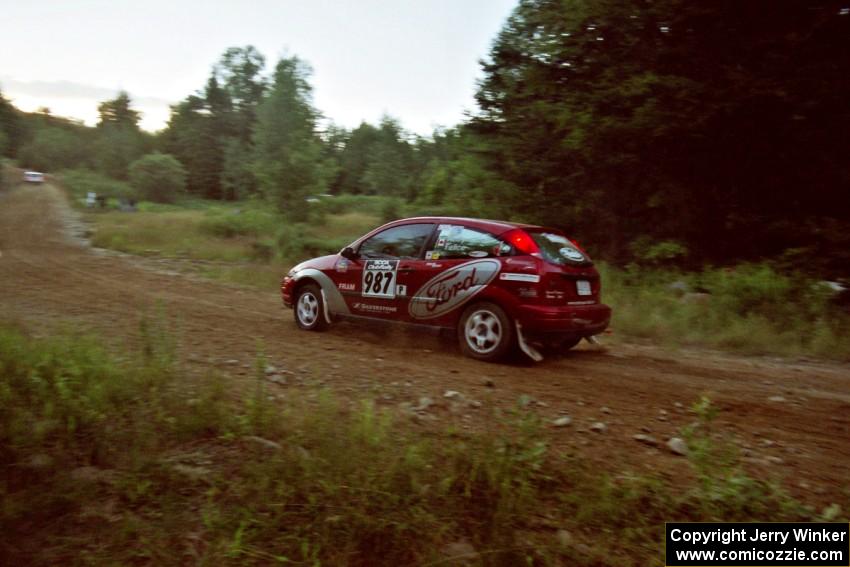
[[[260,202],[186,200],[169,205],[142,202],[135,213],[95,210],[86,219],[93,225],[95,246],[145,256],[230,262],[233,265],[205,267],[201,273],[267,287],[270,277],[254,276],[274,272],[279,278],[286,271],[282,266],[337,252],[381,224],[379,216],[360,210],[315,216],[310,223],[287,225]]]

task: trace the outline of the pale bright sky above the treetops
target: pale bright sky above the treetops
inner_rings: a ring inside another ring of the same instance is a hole
[[[478,60],[517,0],[0,0],[0,91],[22,110],[97,120],[130,93],[143,128],[202,88],[231,46],[266,73],[313,68],[314,105],[348,128],[386,113],[427,135],[475,108]]]

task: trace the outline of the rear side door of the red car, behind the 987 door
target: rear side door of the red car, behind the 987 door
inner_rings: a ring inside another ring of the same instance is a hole
[[[413,323],[451,326],[463,306],[501,269],[504,242],[461,224],[440,224],[421,260],[413,262],[407,317]]]

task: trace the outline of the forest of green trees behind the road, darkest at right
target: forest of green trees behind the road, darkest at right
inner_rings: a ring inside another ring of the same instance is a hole
[[[305,62],[234,47],[156,134],[126,93],[99,106],[94,128],[0,96],[0,152],[116,179],[170,154],[190,194],[265,198],[292,221],[307,218],[308,195],[381,195],[557,226],[614,262],[653,251],[850,272],[839,3],[521,0],[481,65],[478,108],[422,137],[390,116],[334,125],[313,106]]]

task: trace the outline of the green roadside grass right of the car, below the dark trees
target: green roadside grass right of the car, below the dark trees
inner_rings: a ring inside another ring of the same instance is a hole
[[[817,281],[768,264],[702,272],[601,266],[615,335],[745,354],[850,360],[850,313]],[[671,287],[684,283],[691,290]]]

